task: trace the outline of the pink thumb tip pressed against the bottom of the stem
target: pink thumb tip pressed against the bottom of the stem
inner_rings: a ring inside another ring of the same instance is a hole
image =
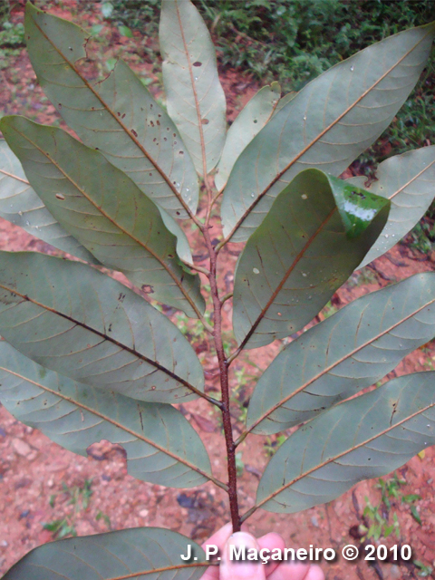
[[[266,580],[265,566],[259,560],[248,560],[254,548],[256,556],[260,547],[254,536],[247,532],[236,532],[229,536],[224,547],[220,565],[220,580]]]

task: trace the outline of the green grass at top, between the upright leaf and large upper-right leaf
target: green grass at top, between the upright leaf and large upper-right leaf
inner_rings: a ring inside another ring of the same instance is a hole
[[[285,91],[382,40],[435,18],[432,0],[195,0],[220,61]],[[235,50],[237,45],[237,50]]]

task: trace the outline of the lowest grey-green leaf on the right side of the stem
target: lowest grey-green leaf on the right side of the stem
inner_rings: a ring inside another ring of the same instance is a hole
[[[256,507],[294,513],[400,468],[435,443],[435,372],[401,376],[295,431],[260,480]]]

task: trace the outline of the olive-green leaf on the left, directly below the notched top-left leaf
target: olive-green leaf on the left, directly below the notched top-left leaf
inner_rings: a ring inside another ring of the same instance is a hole
[[[104,266],[189,316],[204,312],[199,276],[180,263],[159,208],[120,169],[61,129],[17,116],[0,127],[46,208]]]

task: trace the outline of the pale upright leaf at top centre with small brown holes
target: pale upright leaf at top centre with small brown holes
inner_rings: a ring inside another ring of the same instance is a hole
[[[160,51],[168,112],[199,175],[220,158],[227,131],[225,94],[208,28],[190,0],[162,0]]]

